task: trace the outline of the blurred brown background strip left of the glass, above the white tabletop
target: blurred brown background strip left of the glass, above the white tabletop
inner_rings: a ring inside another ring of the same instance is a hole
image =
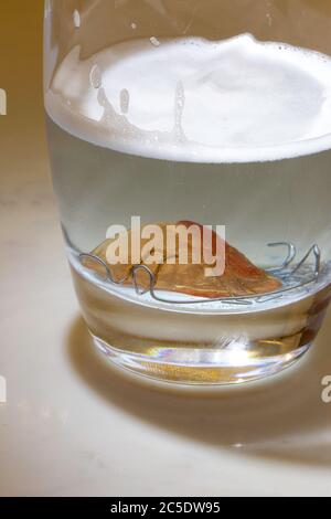
[[[19,172],[22,180],[36,174],[31,161],[45,157],[42,23],[42,0],[1,2],[0,87],[8,94],[8,115],[0,118],[1,184]]]

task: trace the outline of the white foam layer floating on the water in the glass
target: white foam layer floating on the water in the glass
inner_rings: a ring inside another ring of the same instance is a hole
[[[87,60],[74,47],[46,92],[49,115],[95,145],[166,160],[266,161],[331,148],[329,56],[249,34],[158,43],[130,41]]]

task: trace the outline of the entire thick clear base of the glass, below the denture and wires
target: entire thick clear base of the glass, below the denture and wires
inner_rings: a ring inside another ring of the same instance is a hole
[[[238,384],[289,368],[313,343],[330,300],[327,286],[263,308],[190,311],[137,304],[73,276],[98,350],[119,368],[181,384]]]

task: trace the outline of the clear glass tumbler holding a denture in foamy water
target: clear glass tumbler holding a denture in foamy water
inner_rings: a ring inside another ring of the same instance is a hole
[[[331,297],[331,3],[49,0],[44,49],[96,347],[185,384],[301,358]]]

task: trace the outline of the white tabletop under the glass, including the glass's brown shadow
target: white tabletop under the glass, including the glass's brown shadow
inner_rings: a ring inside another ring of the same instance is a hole
[[[196,394],[115,372],[79,318],[36,156],[11,152],[0,181],[0,495],[331,496],[331,315],[268,382]]]

